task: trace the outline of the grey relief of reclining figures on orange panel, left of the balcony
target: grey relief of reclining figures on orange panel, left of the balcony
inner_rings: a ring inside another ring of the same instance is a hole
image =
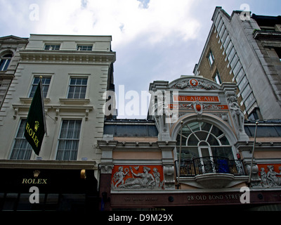
[[[131,189],[163,189],[164,181],[162,174],[157,167],[119,166],[118,171],[112,176],[112,190],[131,190]],[[141,169],[142,168],[142,169]]]

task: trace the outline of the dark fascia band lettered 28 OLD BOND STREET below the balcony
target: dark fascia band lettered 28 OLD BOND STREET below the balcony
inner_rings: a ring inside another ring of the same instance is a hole
[[[208,210],[251,210],[257,207],[275,205],[281,201],[281,191],[237,191],[221,190],[218,192],[205,191],[163,191],[146,193],[117,193],[112,192],[111,206],[119,209],[156,209],[156,210],[198,210],[202,207]],[[279,206],[280,208],[280,206]]]

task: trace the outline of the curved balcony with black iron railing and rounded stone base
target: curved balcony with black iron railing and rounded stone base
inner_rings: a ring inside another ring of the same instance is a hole
[[[176,161],[176,168],[178,168],[178,161]],[[215,156],[181,160],[180,177],[195,177],[195,181],[204,188],[224,188],[235,176],[244,175],[241,160]]]

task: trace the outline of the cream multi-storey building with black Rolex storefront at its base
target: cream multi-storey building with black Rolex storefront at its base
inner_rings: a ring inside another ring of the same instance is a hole
[[[114,89],[111,41],[110,36],[31,34],[17,52],[1,110],[1,210],[98,209],[96,143],[103,138],[104,93]],[[47,131],[35,155],[23,134],[40,77]],[[39,204],[29,203],[31,186],[39,188]]]

